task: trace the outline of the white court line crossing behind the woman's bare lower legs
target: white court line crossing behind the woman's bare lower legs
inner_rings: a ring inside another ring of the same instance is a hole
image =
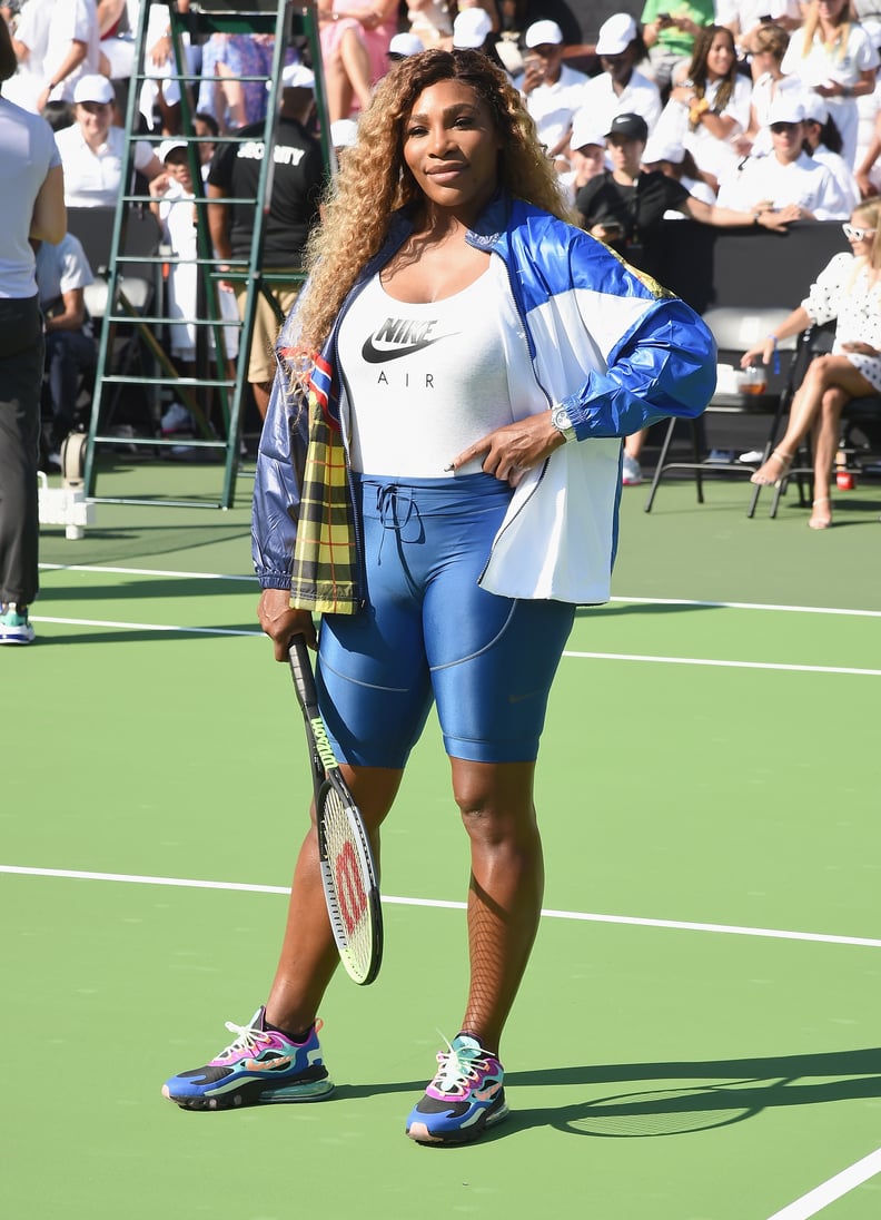
[[[260,886],[246,881],[200,881],[191,877],[150,877],[130,872],[88,872],[80,869],[33,869],[23,865],[0,864],[0,874],[24,877],[57,877],[68,881],[118,881],[132,886],[172,886],[178,889],[223,889],[250,894],[289,894],[286,886]],[[431,906],[465,910],[463,902],[441,898],[395,898],[383,894],[390,906]],[[815,944],[849,944],[881,949],[881,941],[864,936],[831,936],[826,932],[792,932],[771,927],[738,927],[736,924],[697,924],[686,920],[642,919],[637,915],[596,915],[586,911],[542,909],[545,919],[567,919],[589,924],[626,924],[636,927],[663,927],[684,932],[716,932],[726,936],[759,936],[775,941],[810,941]]]

